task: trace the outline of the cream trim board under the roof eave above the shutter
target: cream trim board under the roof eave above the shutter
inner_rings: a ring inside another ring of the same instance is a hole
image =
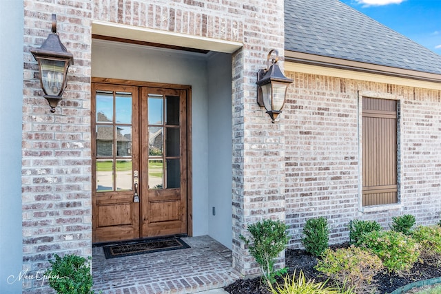
[[[388,83],[388,84],[402,85],[408,87],[420,87],[420,88],[426,88],[432,90],[441,90],[441,83],[418,81],[412,78],[400,78],[396,76],[372,74],[369,72],[358,72],[355,70],[341,70],[338,68],[309,65],[305,63],[294,63],[291,61],[285,61],[284,67],[286,72],[302,72],[304,74],[335,76],[337,78],[348,78],[348,79],[369,81],[375,83]]]

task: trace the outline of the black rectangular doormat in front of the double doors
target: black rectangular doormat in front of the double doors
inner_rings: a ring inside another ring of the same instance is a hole
[[[136,240],[103,246],[106,259],[184,248],[190,248],[190,246],[181,238]]]

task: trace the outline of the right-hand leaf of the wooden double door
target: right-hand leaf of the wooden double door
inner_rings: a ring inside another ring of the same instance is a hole
[[[186,233],[185,91],[141,89],[142,236]]]

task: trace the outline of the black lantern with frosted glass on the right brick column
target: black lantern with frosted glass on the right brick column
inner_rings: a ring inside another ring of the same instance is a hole
[[[269,65],[269,57],[274,52],[276,58],[271,60]],[[265,70],[257,72],[257,103],[267,109],[267,114],[271,116],[272,123],[276,122],[277,116],[282,112],[285,104],[285,96],[287,88],[294,80],[287,78],[278,67],[278,51],[273,49],[269,51],[267,56],[267,67]]]

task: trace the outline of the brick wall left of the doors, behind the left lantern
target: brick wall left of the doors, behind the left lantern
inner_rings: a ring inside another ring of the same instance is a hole
[[[48,293],[41,274],[55,253],[92,255],[90,160],[90,1],[24,1],[23,280],[24,293]],[[50,113],[29,50],[51,32],[74,54],[68,87]]]

